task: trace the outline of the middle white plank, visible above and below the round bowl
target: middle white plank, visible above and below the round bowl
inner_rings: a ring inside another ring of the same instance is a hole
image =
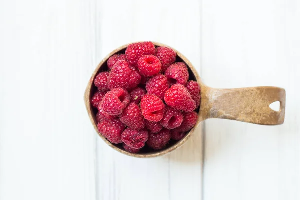
[[[181,51],[200,70],[200,1],[107,1],[97,4],[97,61],[120,45],[158,41]],[[198,132],[177,151],[138,159],[110,149],[98,139],[99,199],[199,199],[202,135]],[[183,191],[184,188],[184,191]]]

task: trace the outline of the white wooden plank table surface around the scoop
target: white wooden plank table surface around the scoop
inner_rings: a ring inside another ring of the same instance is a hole
[[[0,0],[0,200],[300,199],[297,0]],[[83,92],[128,42],[168,44],[212,87],[286,89],[281,126],[211,119],[182,148],[124,156]]]

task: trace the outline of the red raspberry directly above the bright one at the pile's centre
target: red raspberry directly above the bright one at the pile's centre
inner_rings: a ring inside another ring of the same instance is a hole
[[[166,90],[168,90],[167,78],[165,75],[158,74],[149,79],[146,83],[146,90],[148,94],[158,96],[161,100],[164,98]]]

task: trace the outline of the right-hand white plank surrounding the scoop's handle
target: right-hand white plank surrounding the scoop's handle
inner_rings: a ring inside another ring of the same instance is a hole
[[[204,199],[299,199],[299,4],[202,2],[203,82],[286,89],[283,125],[205,121]]]

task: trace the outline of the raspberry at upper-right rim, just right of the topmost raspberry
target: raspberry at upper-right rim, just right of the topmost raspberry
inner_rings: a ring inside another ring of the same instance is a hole
[[[164,72],[167,67],[173,64],[176,60],[176,52],[165,46],[156,48],[156,56],[160,60],[162,72]]]

